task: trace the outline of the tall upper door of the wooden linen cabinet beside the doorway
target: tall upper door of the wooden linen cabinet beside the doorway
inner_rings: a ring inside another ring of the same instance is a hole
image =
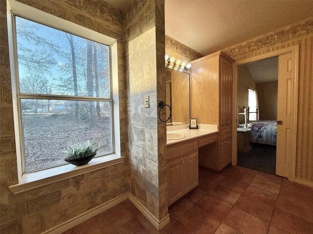
[[[220,89],[221,89],[221,125],[230,124],[232,120],[232,99],[233,99],[233,65],[228,60],[221,58],[220,68]]]

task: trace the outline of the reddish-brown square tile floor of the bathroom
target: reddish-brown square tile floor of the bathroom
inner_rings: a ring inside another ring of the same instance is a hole
[[[126,200],[64,234],[313,234],[313,189],[240,166],[199,169],[161,231]]]

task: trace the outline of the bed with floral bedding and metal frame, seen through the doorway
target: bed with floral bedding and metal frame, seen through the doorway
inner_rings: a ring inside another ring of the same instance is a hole
[[[243,113],[243,114],[241,114]],[[250,142],[261,143],[268,145],[276,145],[277,137],[277,121],[276,120],[248,120],[249,108],[242,107],[238,111],[239,115],[243,115],[245,121],[242,121],[242,117],[238,117],[239,127],[250,128]]]

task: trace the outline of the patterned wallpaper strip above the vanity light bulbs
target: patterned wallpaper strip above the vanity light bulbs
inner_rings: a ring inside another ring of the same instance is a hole
[[[180,59],[185,62],[190,62],[203,57],[203,55],[201,55],[197,51],[166,35],[165,53],[169,57],[174,57],[175,59]]]

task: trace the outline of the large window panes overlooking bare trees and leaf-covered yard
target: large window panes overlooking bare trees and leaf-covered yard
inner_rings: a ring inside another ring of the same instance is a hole
[[[23,172],[65,164],[70,143],[112,154],[110,47],[15,16]]]

